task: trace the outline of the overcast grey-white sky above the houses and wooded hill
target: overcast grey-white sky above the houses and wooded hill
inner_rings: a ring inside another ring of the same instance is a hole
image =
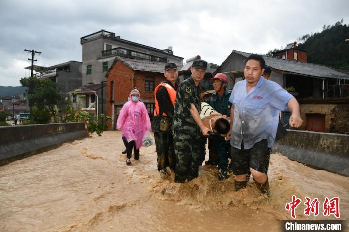
[[[349,0],[1,0],[0,86],[30,75],[24,49],[42,52],[36,65],[81,61],[80,37],[102,28],[220,65],[232,50],[265,54],[342,18]]]

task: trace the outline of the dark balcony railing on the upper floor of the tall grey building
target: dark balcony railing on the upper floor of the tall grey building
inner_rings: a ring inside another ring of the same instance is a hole
[[[123,56],[123,57],[132,58],[132,59],[151,60],[151,61],[164,62],[164,63],[167,62],[166,57],[153,56],[146,53],[137,52],[137,51],[133,51],[126,48],[121,48],[121,47],[102,51],[102,56],[111,56],[111,55]]]

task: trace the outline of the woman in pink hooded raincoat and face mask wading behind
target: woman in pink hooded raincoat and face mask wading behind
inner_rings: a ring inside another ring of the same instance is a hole
[[[147,130],[151,130],[148,111],[139,99],[140,92],[137,89],[132,90],[129,95],[129,101],[120,110],[116,123],[116,128],[122,130],[122,134],[127,141],[127,165],[131,164],[132,148],[134,149],[135,160],[139,159],[139,149],[142,146],[143,136]]]

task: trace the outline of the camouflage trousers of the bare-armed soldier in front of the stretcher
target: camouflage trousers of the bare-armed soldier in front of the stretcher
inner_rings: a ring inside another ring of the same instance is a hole
[[[176,157],[175,182],[191,181],[199,175],[200,129],[180,118],[172,121]]]

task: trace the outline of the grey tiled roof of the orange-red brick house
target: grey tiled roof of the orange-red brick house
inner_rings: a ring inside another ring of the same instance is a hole
[[[139,60],[139,59],[130,59],[121,56],[117,56],[116,59],[120,60],[133,70],[137,71],[148,71],[155,73],[164,73],[165,63],[156,62],[151,60]],[[178,70],[180,70],[183,65],[178,65]]]

